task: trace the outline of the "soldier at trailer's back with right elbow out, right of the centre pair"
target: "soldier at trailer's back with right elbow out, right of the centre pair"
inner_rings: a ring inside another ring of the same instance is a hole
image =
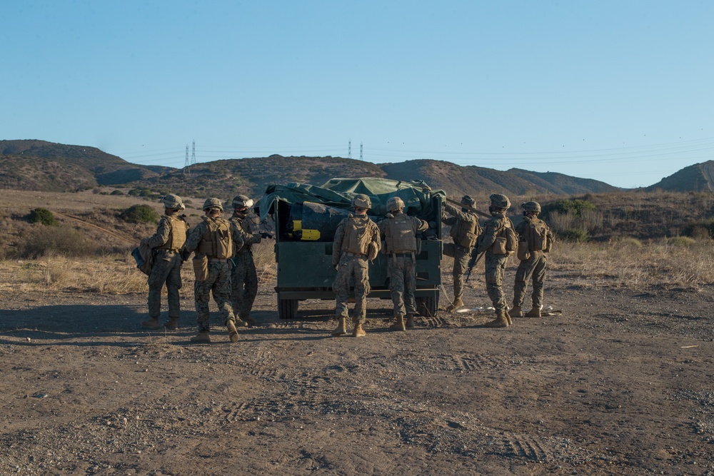
[[[384,236],[382,251],[388,256],[387,275],[396,318],[396,323],[389,328],[406,330],[414,327],[416,313],[416,234],[429,228],[429,224],[406,215],[404,202],[399,197],[389,198],[386,208],[389,213],[379,222],[379,231]]]

